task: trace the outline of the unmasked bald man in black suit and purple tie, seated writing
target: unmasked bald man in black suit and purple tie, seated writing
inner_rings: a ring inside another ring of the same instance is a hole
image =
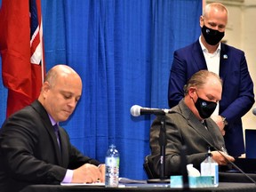
[[[31,184],[104,181],[105,164],[81,154],[59,126],[76,108],[82,80],[57,65],[45,76],[38,100],[5,120],[0,129],[0,191]]]

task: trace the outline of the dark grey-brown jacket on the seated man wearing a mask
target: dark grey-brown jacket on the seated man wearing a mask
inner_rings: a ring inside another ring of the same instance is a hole
[[[200,171],[200,164],[204,161],[208,148],[213,150],[225,148],[220,129],[211,118],[205,120],[207,130],[186,106],[184,100],[172,108],[172,113],[166,115],[166,149],[165,149],[165,176],[181,174],[180,149],[187,148],[188,164],[193,164]],[[156,117],[150,129],[150,164],[154,164],[153,172],[159,176],[159,132],[160,119]],[[186,166],[183,164],[183,166]]]

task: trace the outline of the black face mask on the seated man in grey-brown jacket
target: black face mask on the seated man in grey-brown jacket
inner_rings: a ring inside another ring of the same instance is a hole
[[[195,103],[196,109],[199,113],[199,116],[201,116],[203,119],[208,118],[212,116],[213,111],[217,107],[217,103],[213,101],[203,100],[200,98],[196,92],[197,100]]]

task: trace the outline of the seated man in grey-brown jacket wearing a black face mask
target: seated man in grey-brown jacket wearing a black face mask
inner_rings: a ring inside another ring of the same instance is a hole
[[[198,71],[188,80],[184,91],[184,99],[172,108],[171,114],[166,115],[165,176],[181,174],[182,146],[187,148],[188,164],[194,164],[198,170],[209,147],[212,149],[212,158],[218,164],[226,165],[227,160],[235,160],[226,153],[220,129],[209,118],[221,100],[220,77],[207,70]],[[150,129],[151,156],[148,157],[156,175],[160,175],[160,127],[161,121],[157,116]]]

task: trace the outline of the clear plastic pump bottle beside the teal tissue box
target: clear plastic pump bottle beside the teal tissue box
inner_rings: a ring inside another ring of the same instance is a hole
[[[219,164],[212,159],[211,150],[208,150],[206,158],[201,163],[201,176],[213,176],[213,186],[219,186]]]

